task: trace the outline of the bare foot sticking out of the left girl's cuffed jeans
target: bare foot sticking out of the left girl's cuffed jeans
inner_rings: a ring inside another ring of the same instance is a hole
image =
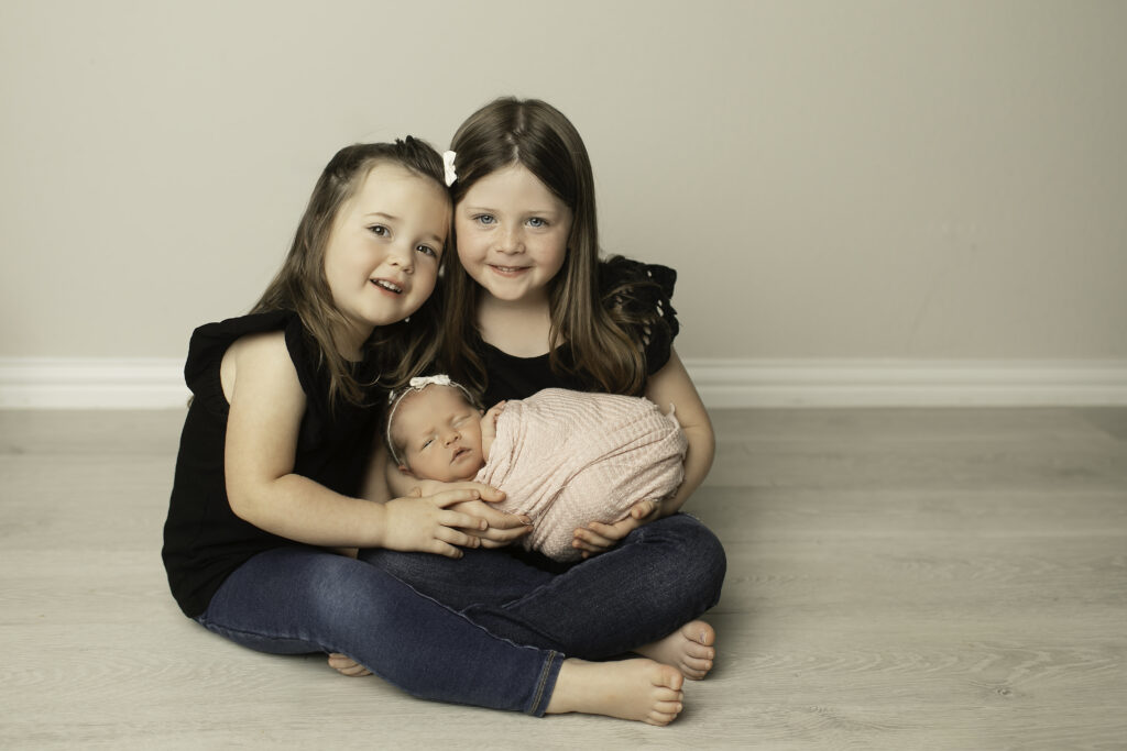
[[[547,712],[582,712],[668,725],[684,706],[683,682],[677,670],[653,660],[565,660]]]

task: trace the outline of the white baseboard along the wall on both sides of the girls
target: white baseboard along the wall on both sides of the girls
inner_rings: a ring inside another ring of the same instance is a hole
[[[1127,360],[686,359],[710,409],[1127,405]],[[179,358],[0,358],[0,409],[183,409]]]

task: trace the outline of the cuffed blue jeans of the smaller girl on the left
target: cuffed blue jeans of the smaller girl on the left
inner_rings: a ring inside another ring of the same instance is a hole
[[[260,652],[344,653],[419,698],[536,716],[562,661],[489,634],[375,566],[309,547],[250,558],[196,620]]]

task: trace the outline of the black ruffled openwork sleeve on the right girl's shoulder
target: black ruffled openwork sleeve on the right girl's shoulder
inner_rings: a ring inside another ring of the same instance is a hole
[[[644,263],[622,256],[600,263],[598,289],[603,307],[633,333],[646,355],[646,373],[660,370],[681,331],[673,307],[677,272],[667,266]]]

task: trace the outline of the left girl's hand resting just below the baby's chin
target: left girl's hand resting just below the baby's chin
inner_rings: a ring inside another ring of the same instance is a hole
[[[477,490],[447,490],[423,497],[416,488],[406,498],[396,498],[383,504],[383,538],[380,547],[391,551],[436,553],[450,558],[462,557],[461,547],[478,547],[478,537],[469,530],[483,531],[488,524],[463,511],[449,507],[480,498]],[[464,531],[463,531],[464,530]]]

